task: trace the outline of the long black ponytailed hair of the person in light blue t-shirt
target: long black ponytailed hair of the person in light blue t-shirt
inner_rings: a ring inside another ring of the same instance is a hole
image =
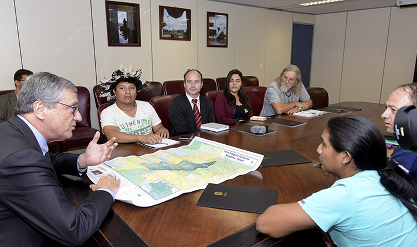
[[[336,152],[349,152],[359,170],[377,170],[380,182],[406,206],[417,221],[416,184],[395,161],[386,158],[386,146],[376,124],[359,116],[342,116],[327,122],[329,141]]]

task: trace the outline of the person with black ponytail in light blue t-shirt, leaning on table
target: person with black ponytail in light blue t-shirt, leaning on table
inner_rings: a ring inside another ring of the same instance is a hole
[[[328,246],[417,246],[416,185],[387,163],[377,125],[359,116],[332,118],[321,139],[321,167],[339,180],[297,203],[268,207],[257,230],[278,238],[317,226]]]

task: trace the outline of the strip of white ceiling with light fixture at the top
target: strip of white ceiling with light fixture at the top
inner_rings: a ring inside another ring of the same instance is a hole
[[[304,7],[299,3],[313,0],[212,0],[235,3],[239,5],[255,6],[267,9],[286,10],[306,14],[326,14],[360,9],[392,7],[396,0],[347,0]]]

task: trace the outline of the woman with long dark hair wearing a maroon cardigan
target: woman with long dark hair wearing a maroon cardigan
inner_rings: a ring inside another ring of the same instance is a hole
[[[236,69],[227,74],[225,90],[217,95],[214,112],[220,124],[232,124],[253,116],[251,103],[243,93],[242,73]]]

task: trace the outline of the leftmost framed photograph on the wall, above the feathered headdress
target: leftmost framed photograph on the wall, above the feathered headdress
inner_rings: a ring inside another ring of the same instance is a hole
[[[109,46],[141,46],[139,4],[106,1]]]

